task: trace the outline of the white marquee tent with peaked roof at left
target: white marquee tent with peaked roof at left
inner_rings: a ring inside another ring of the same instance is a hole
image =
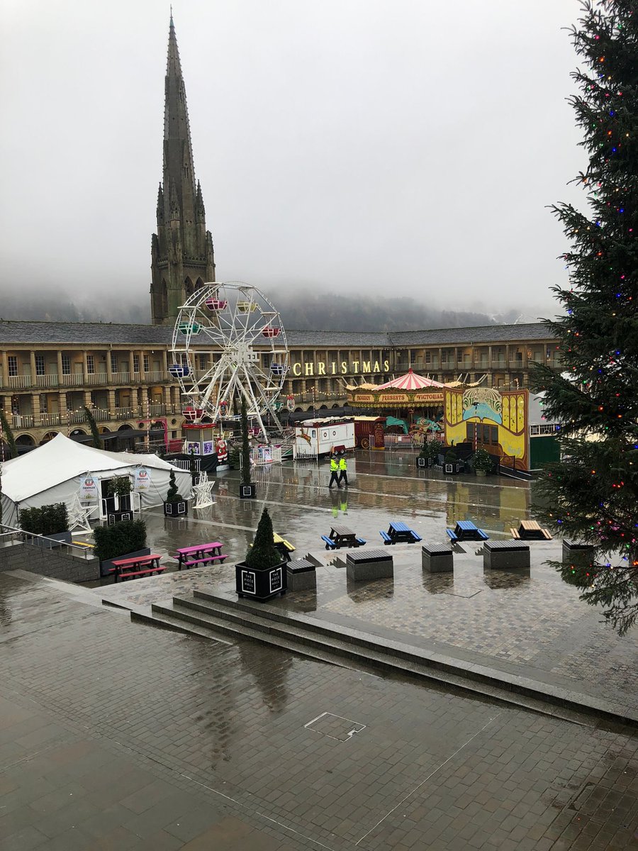
[[[107,452],[77,443],[63,434],[18,458],[5,461],[2,471],[3,523],[18,525],[21,508],[65,502],[70,505],[73,494],[79,494],[83,477],[91,474],[103,481],[113,476],[130,476],[145,467],[151,485],[140,493],[142,508],[162,505],[168,491],[168,477],[175,472],[179,493],[191,496],[191,474],[158,458],[131,452]]]

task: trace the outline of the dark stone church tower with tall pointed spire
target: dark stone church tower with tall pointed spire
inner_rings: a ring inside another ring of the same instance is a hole
[[[164,94],[164,163],[157,193],[157,234],[151,237],[151,321],[171,325],[179,307],[215,279],[213,237],[195,181],[186,90],[173,15],[168,29]]]

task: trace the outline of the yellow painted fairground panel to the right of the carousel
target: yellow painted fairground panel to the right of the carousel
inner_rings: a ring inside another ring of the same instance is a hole
[[[529,393],[495,387],[446,387],[447,445],[470,441],[517,470],[529,469]]]

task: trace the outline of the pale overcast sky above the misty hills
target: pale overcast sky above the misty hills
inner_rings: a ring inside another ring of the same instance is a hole
[[[145,300],[168,3],[0,7],[3,288]],[[553,312],[577,0],[173,11],[219,280]]]

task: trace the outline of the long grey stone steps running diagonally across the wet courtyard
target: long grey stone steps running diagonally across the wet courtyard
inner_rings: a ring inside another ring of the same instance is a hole
[[[347,627],[338,628],[304,614],[287,614],[263,603],[233,601],[195,591],[192,598],[175,597],[172,605],[154,604],[150,616],[135,616],[135,620],[155,622],[215,640],[225,636],[258,641],[357,670],[419,677],[464,694],[498,700],[571,722],[638,725],[638,717],[624,708],[586,694],[472,665]]]

